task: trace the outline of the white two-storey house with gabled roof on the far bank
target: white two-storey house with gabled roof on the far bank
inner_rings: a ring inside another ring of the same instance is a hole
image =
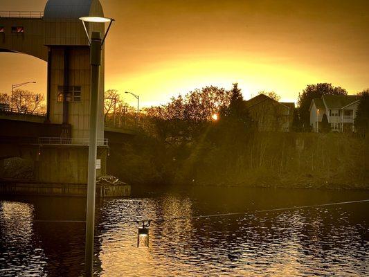
[[[309,107],[310,126],[313,131],[321,131],[322,120],[326,117],[333,132],[353,132],[360,97],[324,95],[314,98]]]

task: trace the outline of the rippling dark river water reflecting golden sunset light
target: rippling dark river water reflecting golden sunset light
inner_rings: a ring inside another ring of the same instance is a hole
[[[98,199],[94,271],[96,276],[369,276],[369,202],[253,213],[359,199],[369,199],[369,192],[151,188],[129,198]],[[82,276],[85,201],[1,197],[0,276]],[[136,247],[138,224],[132,220],[140,219],[157,220],[150,225],[149,247]]]

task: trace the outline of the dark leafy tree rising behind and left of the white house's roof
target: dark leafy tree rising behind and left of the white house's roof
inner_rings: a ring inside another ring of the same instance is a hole
[[[341,87],[333,87],[332,84],[319,83],[308,84],[302,93],[298,93],[298,114],[303,129],[308,129],[310,122],[309,107],[314,98],[323,95],[347,95],[348,92]]]

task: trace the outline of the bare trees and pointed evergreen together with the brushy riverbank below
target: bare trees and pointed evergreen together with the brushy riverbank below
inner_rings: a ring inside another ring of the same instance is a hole
[[[130,184],[368,188],[361,136],[257,132],[237,84],[172,98],[142,124],[109,157]]]

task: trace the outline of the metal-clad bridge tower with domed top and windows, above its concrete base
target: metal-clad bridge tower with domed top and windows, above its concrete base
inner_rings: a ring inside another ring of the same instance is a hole
[[[26,53],[47,62],[46,122],[62,125],[61,137],[88,139],[89,42],[79,17],[104,17],[98,0],[48,0],[44,12],[0,17],[0,51]],[[87,31],[102,24],[87,23]],[[104,139],[104,48],[100,67],[98,139]]]

